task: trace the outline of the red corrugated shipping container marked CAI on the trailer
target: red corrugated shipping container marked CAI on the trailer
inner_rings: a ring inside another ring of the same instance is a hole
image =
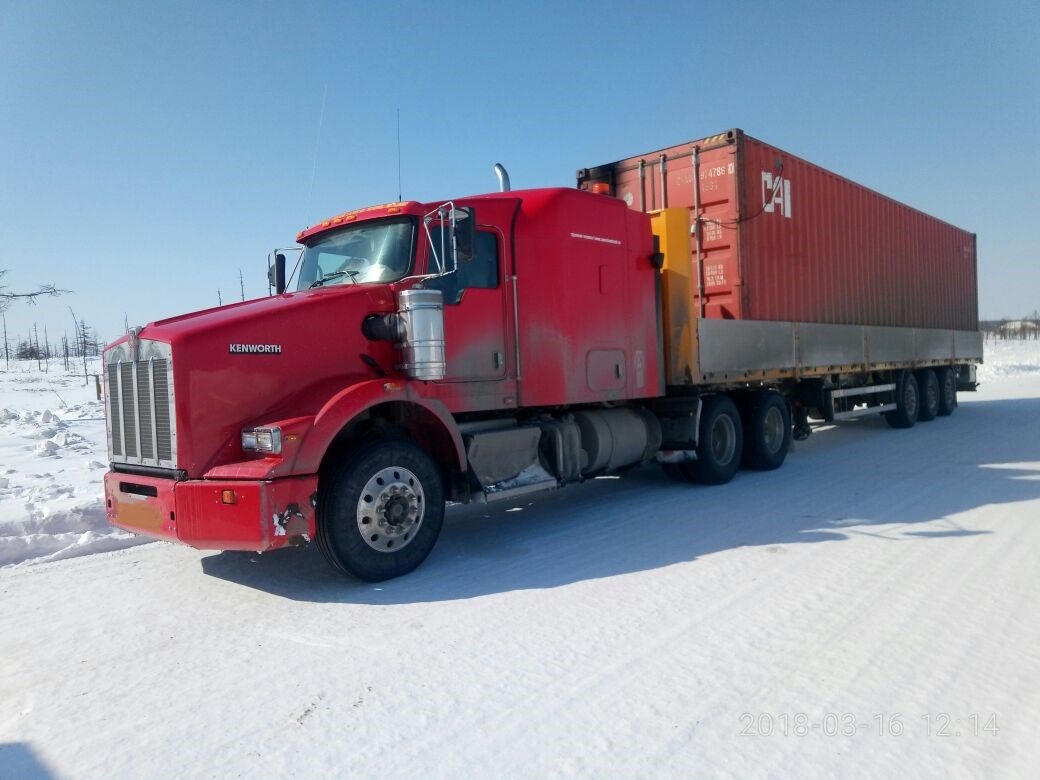
[[[700,216],[701,316],[979,328],[974,234],[742,130],[581,168],[578,186]]]

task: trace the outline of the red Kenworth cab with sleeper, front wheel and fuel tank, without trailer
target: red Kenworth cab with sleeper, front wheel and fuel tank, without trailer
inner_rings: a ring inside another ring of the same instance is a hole
[[[575,189],[349,211],[294,291],[135,329],[104,356],[110,522],[203,549],[316,539],[365,579],[430,552],[446,500],[652,459],[650,217]]]

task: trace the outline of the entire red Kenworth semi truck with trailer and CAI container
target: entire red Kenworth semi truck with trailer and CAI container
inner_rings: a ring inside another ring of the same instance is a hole
[[[982,360],[974,236],[731,130],[578,188],[308,228],[294,291],[104,354],[114,525],[204,549],[316,540],[367,580],[448,501],[645,462],[775,469],[810,416],[951,414]]]

